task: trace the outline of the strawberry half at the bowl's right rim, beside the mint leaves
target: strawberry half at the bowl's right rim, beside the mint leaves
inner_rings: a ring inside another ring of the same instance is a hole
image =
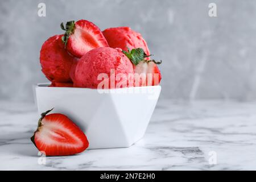
[[[140,61],[139,64],[134,65],[134,73],[145,76],[144,79],[141,77],[137,82],[135,80],[135,86],[159,85],[162,78],[158,66],[154,62],[148,62],[147,60]]]

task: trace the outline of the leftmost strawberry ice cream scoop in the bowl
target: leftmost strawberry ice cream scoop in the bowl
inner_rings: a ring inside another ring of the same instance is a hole
[[[49,81],[71,82],[69,71],[75,57],[64,49],[63,35],[55,35],[44,42],[40,51],[42,72]]]

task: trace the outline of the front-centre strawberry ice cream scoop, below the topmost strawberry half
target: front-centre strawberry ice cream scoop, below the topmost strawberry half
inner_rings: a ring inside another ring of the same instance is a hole
[[[121,75],[118,73],[123,73],[122,75],[127,79],[118,77],[118,75]],[[108,88],[113,88],[113,84],[117,88],[117,85],[121,82],[124,82],[125,85],[120,86],[120,88],[126,87],[129,73],[134,73],[133,65],[120,48],[101,47],[92,49],[82,56],[76,65],[73,78],[74,87],[97,88],[98,84],[106,78],[108,78]],[[100,74],[101,76],[98,78]],[[107,77],[103,78],[104,75]],[[110,77],[110,75],[112,76]],[[114,80],[111,80],[113,77]],[[104,89],[108,88],[104,87]]]

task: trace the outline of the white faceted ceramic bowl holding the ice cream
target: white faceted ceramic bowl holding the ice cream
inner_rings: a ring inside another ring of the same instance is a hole
[[[141,139],[155,109],[161,86],[97,90],[35,85],[39,114],[67,115],[89,140],[89,148],[129,147]],[[108,92],[108,93],[102,93]]]

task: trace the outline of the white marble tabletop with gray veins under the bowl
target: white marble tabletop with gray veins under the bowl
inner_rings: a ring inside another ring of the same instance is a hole
[[[0,170],[256,169],[256,102],[162,100],[130,148],[50,157],[46,164],[30,141],[38,117],[33,104],[0,101]],[[215,154],[217,164],[209,164]]]

